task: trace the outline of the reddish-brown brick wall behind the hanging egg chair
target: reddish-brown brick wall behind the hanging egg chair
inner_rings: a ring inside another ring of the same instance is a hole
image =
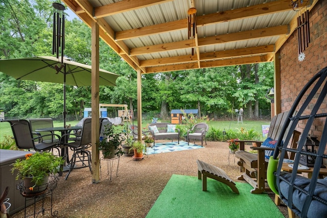
[[[310,43],[304,53],[304,61],[298,61],[297,31],[281,47],[281,100],[282,112],[290,110],[300,90],[323,67],[327,66],[327,1],[320,0],[309,13]],[[317,95],[316,95],[317,96]],[[315,96],[315,98],[316,98]],[[308,106],[310,113],[316,99]],[[327,112],[327,100],[320,107],[319,113]],[[316,120],[310,134],[318,136],[325,123],[325,118]],[[305,122],[300,121],[296,130],[302,132]]]

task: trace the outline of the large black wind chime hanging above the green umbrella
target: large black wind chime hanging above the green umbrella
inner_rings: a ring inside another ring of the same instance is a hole
[[[65,49],[65,15],[63,11],[65,7],[60,3],[52,3],[52,6],[55,8],[53,12],[52,54],[56,53],[57,58],[59,58],[60,53],[61,63],[63,63],[63,50]],[[63,65],[55,67],[58,73]]]

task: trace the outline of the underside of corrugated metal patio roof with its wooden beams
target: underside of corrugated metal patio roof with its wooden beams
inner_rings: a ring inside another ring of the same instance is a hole
[[[312,6],[318,0],[303,1]],[[144,73],[273,61],[297,26],[291,0],[62,0]],[[197,34],[188,39],[188,9]],[[192,55],[192,47],[194,55]]]

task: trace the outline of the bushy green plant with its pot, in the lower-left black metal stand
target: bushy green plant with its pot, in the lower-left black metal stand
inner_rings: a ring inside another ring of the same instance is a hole
[[[45,190],[49,174],[57,174],[64,160],[52,155],[50,152],[36,152],[25,155],[25,159],[17,159],[11,172],[18,171],[16,179],[24,179],[27,194]]]

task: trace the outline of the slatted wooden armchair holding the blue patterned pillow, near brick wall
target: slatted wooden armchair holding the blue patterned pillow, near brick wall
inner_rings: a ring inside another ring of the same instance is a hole
[[[288,111],[284,113],[279,113],[272,118],[269,127],[268,137],[273,140],[277,140],[279,133],[281,133],[283,129],[283,125],[286,122],[287,117]],[[299,135],[300,132],[296,130],[293,132],[291,148],[296,148],[296,142],[298,141]],[[253,187],[251,193],[262,193],[264,191],[270,191],[270,188],[265,184],[265,181],[267,179],[268,166],[268,159],[265,159],[265,151],[274,149],[261,148],[260,146],[262,141],[237,141],[240,142],[240,151],[237,151],[235,154],[237,158],[240,158],[240,161],[238,161],[240,171],[244,172],[241,176],[238,177],[238,180],[247,181]],[[257,150],[258,154],[246,152],[244,148],[245,142],[255,142],[257,147],[251,147],[251,149]]]

